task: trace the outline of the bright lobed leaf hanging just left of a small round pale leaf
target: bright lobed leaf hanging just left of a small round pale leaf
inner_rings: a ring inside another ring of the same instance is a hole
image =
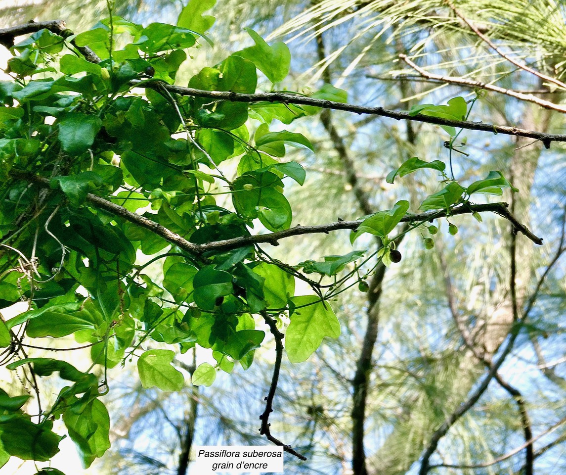
[[[175,352],[171,350],[148,350],[138,359],[141,385],[145,388],[156,386],[163,391],[181,391],[185,377],[171,366]]]

